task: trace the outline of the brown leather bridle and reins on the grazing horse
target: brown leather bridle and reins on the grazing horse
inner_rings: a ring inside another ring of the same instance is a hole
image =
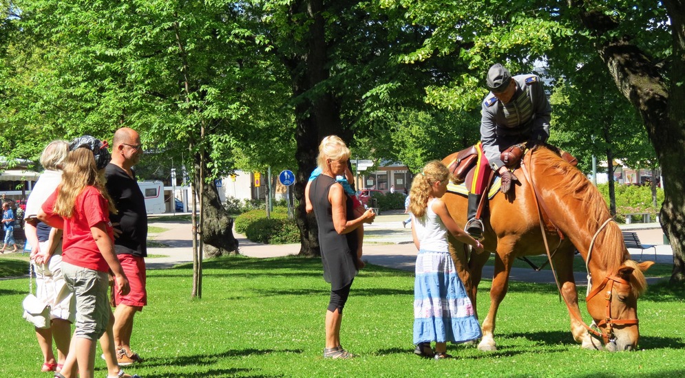
[[[637,319],[613,319],[611,317],[611,300],[613,299],[613,284],[615,282],[618,282],[622,285],[630,285],[630,282],[624,280],[623,278],[615,276],[615,274],[609,274],[606,277],[604,277],[604,280],[602,280],[602,283],[600,283],[600,285],[594,287],[590,291],[590,287],[592,285],[592,279],[591,279],[591,274],[590,274],[590,270],[588,267],[588,264],[590,262],[590,257],[592,255],[592,247],[595,243],[595,239],[597,238],[600,231],[602,231],[604,229],[604,226],[607,225],[607,223],[609,223],[609,221],[612,221],[613,219],[609,218],[609,219],[607,219],[607,221],[604,221],[604,223],[602,223],[600,228],[594,234],[594,236],[592,237],[592,241],[590,243],[590,248],[589,248],[588,254],[587,254],[587,260],[585,261],[585,269],[587,270],[587,278],[588,278],[587,279],[587,285],[588,285],[588,290],[589,290],[589,293],[585,297],[585,302],[589,302],[589,300],[594,298],[598,293],[600,293],[600,291],[602,291],[605,287],[607,287],[607,285],[609,285],[609,287],[606,291],[606,295],[604,296],[604,300],[607,301],[607,307],[606,307],[607,311],[606,311],[606,315],[604,316],[604,319],[600,320],[600,322],[598,322],[598,323],[595,323],[593,321],[593,323],[590,326],[588,326],[582,320],[582,318],[580,318],[580,315],[576,314],[575,312],[573,312],[573,309],[571,309],[571,304],[569,304],[569,302],[566,300],[566,298],[564,297],[564,294],[561,291],[561,286],[559,285],[559,280],[556,276],[556,270],[554,269],[554,265],[552,265],[552,256],[554,254],[551,254],[549,252],[549,243],[547,243],[547,232],[545,231],[545,220],[543,218],[546,218],[547,220],[549,220],[549,223],[551,223],[552,225],[554,225],[554,222],[551,221],[551,218],[549,216],[549,210],[547,210],[547,206],[545,205],[545,202],[542,201],[542,196],[540,196],[540,193],[538,192],[538,188],[536,188],[536,186],[533,184],[533,180],[531,179],[532,175],[529,172],[529,170],[533,166],[531,164],[532,155],[533,155],[532,150],[530,150],[529,153],[524,155],[524,157],[521,161],[521,170],[523,171],[523,175],[525,176],[526,180],[528,181],[528,184],[531,187],[531,192],[533,194],[535,206],[536,206],[536,209],[538,210],[538,217],[540,219],[540,231],[542,232],[542,240],[545,241],[545,250],[547,251],[547,258],[549,260],[549,269],[551,269],[552,274],[554,275],[554,281],[556,282],[556,287],[559,290],[560,296],[561,296],[561,298],[563,298],[564,303],[566,304],[566,307],[569,309],[569,313],[571,315],[573,315],[573,318],[576,318],[576,320],[578,322],[580,322],[580,324],[582,324],[585,327],[585,329],[587,329],[587,332],[590,335],[593,335],[596,337],[601,337],[602,340],[604,341],[604,344],[609,344],[609,342],[614,342],[615,341],[615,335],[613,334],[613,326],[614,325],[624,326],[624,325],[633,325],[633,324],[637,325],[638,324]],[[558,227],[556,227],[556,225],[554,225],[554,228],[556,229],[556,232],[559,234],[560,238],[563,240],[562,232],[559,230]],[[559,243],[559,245],[561,245],[561,242]],[[559,246],[557,246],[557,248],[558,247]],[[554,252],[556,252],[556,249]],[[593,326],[595,326],[596,328],[593,328]],[[602,329],[600,329],[600,327],[602,327],[602,326],[607,326],[607,330],[602,332]]]

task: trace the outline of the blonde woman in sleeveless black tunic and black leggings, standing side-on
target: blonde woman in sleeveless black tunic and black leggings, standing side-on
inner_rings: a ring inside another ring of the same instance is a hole
[[[352,200],[335,177],[344,175],[350,150],[337,136],[325,137],[319,145],[318,164],[322,170],[312,181],[309,197],[319,226],[319,245],[324,263],[324,279],[330,282],[330,302],[326,311],[324,358],[351,358],[340,345],[342,310],[357,276],[357,233],[352,232],[375,218],[372,210],[354,219]],[[350,221],[348,221],[350,219]]]

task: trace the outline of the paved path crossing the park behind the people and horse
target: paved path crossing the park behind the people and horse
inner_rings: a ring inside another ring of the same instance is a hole
[[[386,212],[377,220],[365,227],[364,257],[363,259],[375,265],[414,271],[417,249],[412,243],[410,228],[402,226],[406,219],[401,212]],[[147,258],[149,269],[165,269],[179,263],[189,263],[192,258],[192,241],[189,223],[161,222],[158,218],[151,218],[150,225],[167,229],[160,234],[151,234],[155,241],[169,247],[149,247],[148,254],[165,255],[160,258]],[[656,261],[659,263],[673,263],[673,251],[670,245],[663,245],[663,233],[658,223],[624,225],[622,229],[637,232],[644,244],[655,244]],[[240,234],[236,234],[240,243],[240,254],[251,257],[277,257],[299,253],[299,244],[266,245],[254,243]],[[654,260],[652,249],[644,252],[645,260]],[[640,249],[629,249],[633,259],[640,258]],[[493,267],[486,266],[484,278],[490,278]],[[576,274],[578,285],[587,285],[586,274]],[[524,282],[554,283],[554,276],[549,270],[534,271],[534,269],[513,268],[510,275],[512,280]]]

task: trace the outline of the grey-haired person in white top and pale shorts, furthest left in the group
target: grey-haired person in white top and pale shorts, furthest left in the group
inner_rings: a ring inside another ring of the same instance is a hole
[[[76,320],[74,294],[67,292],[59,296],[66,285],[62,276],[62,230],[36,219],[41,206],[62,180],[67,155],[69,142],[65,140],[55,140],[45,146],[40,159],[45,171],[31,190],[24,217],[26,243],[31,246],[30,258],[36,272],[36,296],[50,305],[50,326],[36,328],[38,344],[43,352],[42,372],[59,373],[62,370],[69,353],[72,323]],[[52,340],[57,348],[56,359]]]

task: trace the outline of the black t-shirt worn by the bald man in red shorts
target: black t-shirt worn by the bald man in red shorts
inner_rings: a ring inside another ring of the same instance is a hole
[[[145,211],[145,196],[138,187],[136,173],[131,179],[125,170],[114,164],[105,168],[107,178],[107,192],[112,197],[118,214],[109,214],[112,223],[119,223],[115,228],[121,230],[118,238],[114,238],[116,254],[132,254],[147,256],[147,212]]]

